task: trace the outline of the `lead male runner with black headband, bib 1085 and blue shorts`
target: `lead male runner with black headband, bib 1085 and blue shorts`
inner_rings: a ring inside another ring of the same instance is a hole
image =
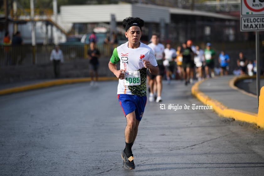
[[[137,136],[138,125],[143,116],[147,102],[146,73],[157,75],[159,68],[154,52],[140,42],[141,27],[144,21],[129,17],[123,20],[125,36],[128,42],[114,49],[108,67],[119,78],[118,100],[127,120],[125,128],[125,149],[121,153],[124,168],[134,169],[132,145]],[[116,64],[120,62],[120,70]]]

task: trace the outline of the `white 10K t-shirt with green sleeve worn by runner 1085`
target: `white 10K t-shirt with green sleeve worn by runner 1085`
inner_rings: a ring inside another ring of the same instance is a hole
[[[120,69],[125,70],[125,79],[119,79],[117,94],[147,95],[147,69],[143,60],[157,66],[154,51],[143,43],[140,43],[138,48],[132,49],[126,42],[114,49],[111,63],[117,64],[120,61]]]

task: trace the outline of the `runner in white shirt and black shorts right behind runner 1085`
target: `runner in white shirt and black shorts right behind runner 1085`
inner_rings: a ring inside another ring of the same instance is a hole
[[[150,97],[149,100],[150,102],[154,101],[154,93],[155,90],[154,88],[156,87],[157,90],[157,99],[156,102],[161,102],[161,91],[162,91],[162,77],[164,75],[165,72],[165,67],[163,65],[163,61],[164,61],[164,45],[162,45],[161,43],[159,43],[159,37],[156,34],[153,34],[151,37],[151,43],[148,45],[150,48],[152,48],[152,50],[155,53],[156,56],[156,60],[159,66],[159,73],[158,75],[155,77],[153,75],[150,75],[148,73],[148,75],[150,76],[150,80],[149,80],[149,85],[150,85]]]

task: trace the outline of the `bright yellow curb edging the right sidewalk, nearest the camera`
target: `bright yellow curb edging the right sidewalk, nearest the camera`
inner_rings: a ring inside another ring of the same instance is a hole
[[[235,80],[233,80],[235,83]],[[203,81],[199,81],[195,83],[192,87],[192,94],[198,100],[200,100],[203,104],[209,105],[213,107],[213,110],[216,114],[226,118],[233,118],[235,120],[245,121],[248,123],[253,123],[258,125],[260,128],[264,128],[264,87],[261,88],[261,96],[260,96],[260,104],[258,114],[239,110],[239,109],[229,109],[228,107],[224,106],[220,102],[211,99],[210,97],[206,96],[204,93],[199,91],[199,84]]]

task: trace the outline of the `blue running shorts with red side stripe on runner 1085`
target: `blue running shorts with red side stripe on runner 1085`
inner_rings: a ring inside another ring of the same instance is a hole
[[[141,97],[129,94],[118,94],[117,98],[125,116],[135,111],[136,119],[138,121],[142,119],[147,103],[146,96]]]

